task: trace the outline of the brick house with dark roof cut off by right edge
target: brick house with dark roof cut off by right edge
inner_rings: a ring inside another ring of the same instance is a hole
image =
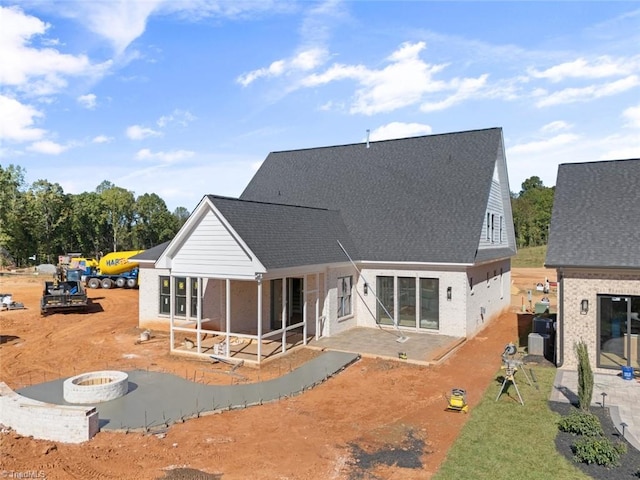
[[[558,168],[545,262],[558,273],[558,366],[583,340],[596,371],[638,368],[640,160]]]

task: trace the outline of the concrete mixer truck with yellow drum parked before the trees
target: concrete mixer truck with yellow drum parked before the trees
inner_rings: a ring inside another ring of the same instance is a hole
[[[69,262],[70,270],[80,270],[82,279],[89,288],[113,288],[138,286],[138,262],[129,258],[144,250],[111,252],[100,260],[93,258],[73,257]]]

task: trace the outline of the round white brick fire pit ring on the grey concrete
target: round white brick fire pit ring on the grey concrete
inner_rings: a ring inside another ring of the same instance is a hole
[[[89,372],[68,378],[62,385],[64,400],[73,404],[108,402],[129,391],[129,375],[116,370]]]

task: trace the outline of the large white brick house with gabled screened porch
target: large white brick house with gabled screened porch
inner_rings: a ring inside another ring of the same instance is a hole
[[[257,362],[362,326],[471,337],[509,307],[515,251],[499,128],[276,152],[136,258],[140,325],[170,324],[172,351],[196,332],[199,355],[211,332],[220,355],[245,340]]]

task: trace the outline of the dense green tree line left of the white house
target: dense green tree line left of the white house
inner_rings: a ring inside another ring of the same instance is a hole
[[[57,263],[58,255],[89,257],[145,250],[171,240],[189,217],[171,213],[155,193],[134,192],[105,180],[93,192],[66,194],[57,183],[25,182],[20,166],[0,165],[0,266]]]

